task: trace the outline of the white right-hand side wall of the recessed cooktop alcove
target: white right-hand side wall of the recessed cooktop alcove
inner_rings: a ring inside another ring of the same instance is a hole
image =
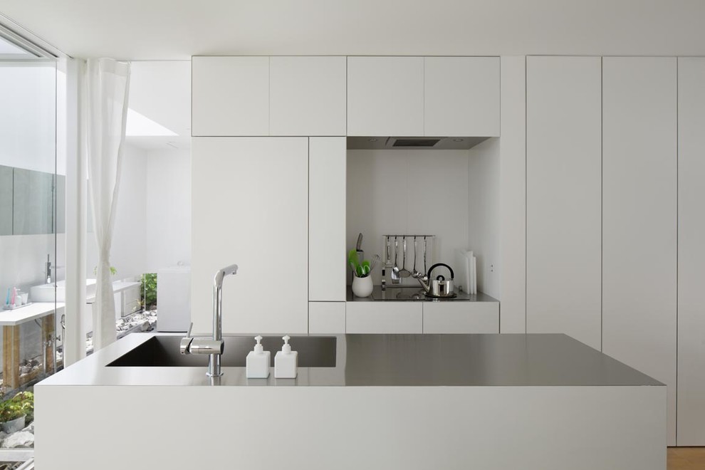
[[[467,248],[477,258],[478,291],[500,298],[499,139],[488,139],[469,152]]]

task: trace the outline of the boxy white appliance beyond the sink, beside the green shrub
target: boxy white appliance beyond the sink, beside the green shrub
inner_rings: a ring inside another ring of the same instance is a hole
[[[181,332],[191,323],[191,266],[157,271],[157,331]]]

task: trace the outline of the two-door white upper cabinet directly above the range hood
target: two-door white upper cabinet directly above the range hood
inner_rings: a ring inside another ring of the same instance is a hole
[[[348,135],[499,135],[498,57],[349,57]]]

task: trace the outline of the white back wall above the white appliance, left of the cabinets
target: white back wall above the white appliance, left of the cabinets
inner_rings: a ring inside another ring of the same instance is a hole
[[[147,155],[147,272],[191,264],[191,152]]]

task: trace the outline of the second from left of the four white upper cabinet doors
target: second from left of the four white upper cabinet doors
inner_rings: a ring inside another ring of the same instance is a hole
[[[269,67],[269,135],[345,135],[345,57],[271,57]]]

